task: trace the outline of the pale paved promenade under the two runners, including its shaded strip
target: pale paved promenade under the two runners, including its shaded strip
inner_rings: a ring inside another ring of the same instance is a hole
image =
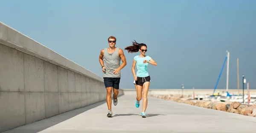
[[[105,101],[4,133],[253,133],[256,118],[188,104],[148,98],[147,118],[134,95],[119,97],[113,118]],[[138,132],[136,132],[138,131]]]

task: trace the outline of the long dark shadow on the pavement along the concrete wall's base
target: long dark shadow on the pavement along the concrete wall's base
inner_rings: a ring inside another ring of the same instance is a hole
[[[70,111],[67,111],[65,113],[61,113],[59,115],[52,116],[50,118],[43,119],[43,120],[40,120],[40,121],[35,121],[33,123],[26,124],[26,125],[23,125],[23,126],[11,129],[11,130],[7,130],[7,131],[1,132],[1,133],[38,133],[42,130],[45,130],[49,127],[52,127],[52,126],[54,126],[56,124],[59,124],[63,121],[71,119],[72,117],[75,117],[75,116],[77,116],[81,113],[84,113],[87,110],[98,107],[98,106],[104,104],[105,102],[106,102],[105,100],[100,101],[100,102],[97,102],[95,104],[91,104],[91,105],[81,107],[81,108],[78,108],[78,109],[75,109],[75,110],[70,110]]]

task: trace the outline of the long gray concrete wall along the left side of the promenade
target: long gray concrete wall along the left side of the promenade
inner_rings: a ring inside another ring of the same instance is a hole
[[[105,97],[103,78],[0,23],[0,132]]]

